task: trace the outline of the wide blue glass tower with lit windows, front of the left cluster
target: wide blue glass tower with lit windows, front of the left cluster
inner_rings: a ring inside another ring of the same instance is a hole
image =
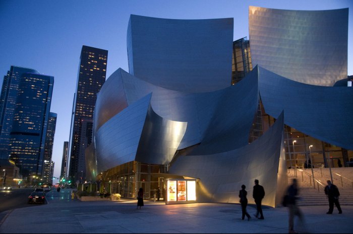
[[[25,176],[43,171],[53,83],[53,76],[38,73],[23,73],[18,83],[9,150]]]

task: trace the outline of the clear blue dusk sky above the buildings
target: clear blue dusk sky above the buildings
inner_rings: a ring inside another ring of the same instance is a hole
[[[237,40],[249,38],[249,6],[288,10],[349,8],[348,75],[353,74],[352,0],[0,0],[0,84],[11,65],[54,76],[51,112],[57,113],[57,124],[52,161],[54,176],[59,177],[64,141],[69,141],[82,45],[109,51],[109,77],[119,67],[129,71],[126,33],[131,14],[170,19],[234,18],[233,39]]]

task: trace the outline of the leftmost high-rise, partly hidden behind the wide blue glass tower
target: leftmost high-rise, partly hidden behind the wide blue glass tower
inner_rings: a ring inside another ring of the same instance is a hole
[[[8,73],[4,76],[0,96],[0,159],[9,159],[10,132],[14,119],[16,99],[21,77],[25,73],[39,74],[34,69],[11,66]]]

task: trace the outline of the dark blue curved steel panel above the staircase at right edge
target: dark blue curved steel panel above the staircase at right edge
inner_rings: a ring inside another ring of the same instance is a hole
[[[288,126],[353,149],[353,89],[306,85],[260,67],[259,90],[267,114],[277,116],[284,110]]]

